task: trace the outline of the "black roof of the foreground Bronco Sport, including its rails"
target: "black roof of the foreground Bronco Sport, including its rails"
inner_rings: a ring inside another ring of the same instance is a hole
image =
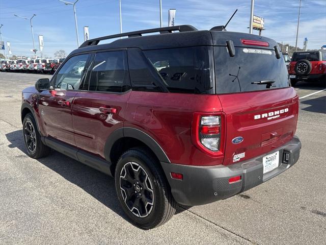
[[[175,32],[172,32],[175,31]],[[177,32],[178,31],[178,32]],[[147,33],[159,32],[159,35],[145,35]],[[128,38],[119,38],[119,37]],[[102,40],[119,38],[111,43],[98,44]],[[128,48],[138,47],[141,50],[154,50],[158,48],[173,48],[186,46],[206,46],[206,45],[226,45],[226,40],[232,40],[235,46],[242,46],[240,39],[251,39],[258,41],[266,41],[269,43],[270,49],[278,45],[274,40],[247,33],[214,31],[211,30],[198,31],[193,26],[176,26],[167,28],[148,29],[137,32],[129,32],[104,36],[85,41],[79,48],[71,52],[70,55],[84,52],[92,52],[98,50],[109,50],[112,48]],[[248,46],[248,45],[246,45]],[[254,46],[257,47],[257,46]],[[70,56],[69,55],[69,56]]]

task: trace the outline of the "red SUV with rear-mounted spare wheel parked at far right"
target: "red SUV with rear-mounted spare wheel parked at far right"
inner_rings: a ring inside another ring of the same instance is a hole
[[[288,66],[291,84],[320,81],[326,86],[326,51],[294,52]]]

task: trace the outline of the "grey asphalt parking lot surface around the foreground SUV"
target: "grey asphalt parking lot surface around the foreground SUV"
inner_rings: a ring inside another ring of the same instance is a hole
[[[300,82],[299,161],[270,181],[212,204],[178,208],[144,231],[120,208],[112,178],[60,153],[25,154],[21,90],[50,75],[0,73],[0,244],[324,244],[326,90]]]

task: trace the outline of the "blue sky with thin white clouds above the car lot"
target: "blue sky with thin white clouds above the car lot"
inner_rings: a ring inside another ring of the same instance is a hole
[[[265,20],[262,35],[295,46],[299,1],[255,0],[254,14]],[[159,0],[121,2],[123,32],[159,27]],[[176,9],[176,25],[192,24],[199,30],[225,24],[238,9],[227,30],[248,33],[250,4],[250,0],[162,0],[163,26],[168,26],[170,8]],[[326,44],[326,0],[302,0],[301,13],[298,47],[307,37],[308,48],[319,49]],[[58,50],[69,54],[77,48],[72,5],[58,0],[0,0],[3,40],[11,42],[14,55],[31,56],[33,49],[30,21],[14,14],[29,18],[36,14],[35,46],[39,50],[38,35],[43,35],[43,56],[53,57]],[[89,27],[90,38],[120,33],[119,0],[79,0],[76,14],[79,44],[84,41],[84,26]],[[258,35],[256,30],[253,33]]]

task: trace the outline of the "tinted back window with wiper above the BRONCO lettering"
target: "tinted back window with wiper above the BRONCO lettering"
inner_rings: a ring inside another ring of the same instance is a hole
[[[235,47],[235,56],[230,57],[225,46],[215,46],[214,57],[216,93],[249,92],[289,86],[286,65],[282,58],[276,58],[274,50]]]

